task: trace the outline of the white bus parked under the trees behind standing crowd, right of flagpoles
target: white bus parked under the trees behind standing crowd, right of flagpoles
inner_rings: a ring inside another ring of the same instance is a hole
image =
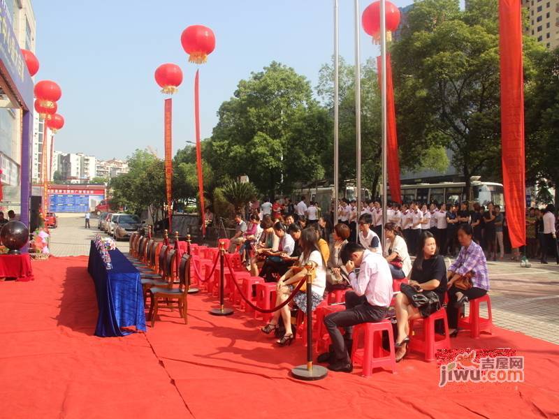
[[[504,211],[504,190],[500,183],[480,182],[474,180],[470,191],[466,191],[465,182],[447,182],[438,184],[412,184],[402,185],[402,203],[461,203],[471,200],[479,205],[487,206],[488,203],[500,205]],[[389,191],[389,201],[391,200]]]

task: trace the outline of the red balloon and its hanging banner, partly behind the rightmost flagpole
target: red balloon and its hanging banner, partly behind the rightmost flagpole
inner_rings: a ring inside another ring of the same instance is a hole
[[[391,41],[392,33],[400,25],[400,10],[390,1],[385,2],[386,40]],[[361,23],[365,32],[372,36],[373,43],[379,43],[381,38],[380,1],[371,3],[361,16]],[[393,201],[402,203],[400,193],[400,161],[398,158],[398,135],[396,132],[396,113],[394,106],[394,90],[392,84],[392,65],[390,54],[386,54],[386,92],[382,91],[382,57],[377,57],[377,69],[381,94],[386,94],[386,170]],[[383,159],[384,160],[384,159]],[[383,180],[383,182],[385,182]],[[383,191],[386,196],[386,191]],[[383,205],[383,208],[386,205]]]

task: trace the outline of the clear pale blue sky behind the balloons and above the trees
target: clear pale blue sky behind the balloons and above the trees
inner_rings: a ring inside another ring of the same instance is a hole
[[[371,1],[361,1],[363,10]],[[406,6],[412,0],[393,0]],[[340,55],[354,61],[354,2],[340,0]],[[180,45],[191,24],[216,36],[216,49],[201,70],[202,138],[211,135],[216,112],[241,79],[279,61],[314,87],[333,54],[332,0],[34,1],[35,80],[62,89],[56,136],[61,152],[123,159],[148,145],[163,154],[163,100],[157,66],[181,66],[184,81],[173,96],[173,148],[194,141],[194,73]],[[379,54],[361,31],[361,61]]]

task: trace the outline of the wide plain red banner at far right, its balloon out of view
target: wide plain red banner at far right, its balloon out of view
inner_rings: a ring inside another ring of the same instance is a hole
[[[499,1],[499,51],[504,205],[511,247],[515,248],[526,242],[521,0]]]

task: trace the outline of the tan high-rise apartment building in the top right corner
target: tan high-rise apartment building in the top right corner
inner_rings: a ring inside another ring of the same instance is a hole
[[[559,47],[559,0],[522,0],[528,9],[526,34],[550,50]]]

